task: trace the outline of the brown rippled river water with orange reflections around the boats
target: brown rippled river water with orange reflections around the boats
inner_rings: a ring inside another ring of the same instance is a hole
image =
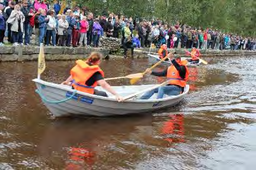
[[[256,56],[204,59],[209,65],[190,68],[190,92],[175,107],[58,119],[34,92],[36,62],[0,63],[0,169],[255,169]],[[101,67],[117,77],[147,63],[119,59]],[[41,78],[61,83],[73,64],[47,61]]]

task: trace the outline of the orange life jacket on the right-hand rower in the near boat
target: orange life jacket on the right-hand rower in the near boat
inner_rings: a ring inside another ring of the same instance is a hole
[[[178,70],[173,65],[168,67],[167,78],[174,79],[174,80],[170,80],[169,84],[185,87],[187,80],[188,80],[188,76],[189,76],[189,71],[186,66],[187,60],[182,60],[178,64],[180,64],[180,66],[185,66],[185,69],[186,69],[185,79],[181,79],[180,74],[178,73]],[[177,80],[175,80],[175,79],[177,79]]]

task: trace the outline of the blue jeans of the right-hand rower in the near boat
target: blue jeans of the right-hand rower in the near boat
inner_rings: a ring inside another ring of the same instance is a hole
[[[156,99],[162,99],[164,97],[164,94],[167,94],[168,96],[177,96],[178,94],[181,94],[181,87],[174,85],[158,87],[156,89],[146,92],[140,97],[140,99],[147,100],[151,96],[153,96],[154,93],[158,93]]]

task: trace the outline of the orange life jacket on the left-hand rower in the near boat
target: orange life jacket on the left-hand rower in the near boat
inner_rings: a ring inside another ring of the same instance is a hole
[[[85,61],[77,60],[76,66],[71,69],[73,88],[85,93],[94,94],[94,88],[97,86],[97,82],[95,81],[92,86],[87,86],[87,84],[85,83],[96,72],[100,72],[100,74],[104,77],[104,72],[101,70],[100,67],[89,66]]]

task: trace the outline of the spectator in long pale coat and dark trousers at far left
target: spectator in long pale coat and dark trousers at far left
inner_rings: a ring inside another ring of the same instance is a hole
[[[23,45],[23,22],[25,21],[25,17],[20,10],[20,5],[15,5],[14,10],[7,20],[11,24],[12,42],[14,42],[14,46],[17,46],[18,43]]]

